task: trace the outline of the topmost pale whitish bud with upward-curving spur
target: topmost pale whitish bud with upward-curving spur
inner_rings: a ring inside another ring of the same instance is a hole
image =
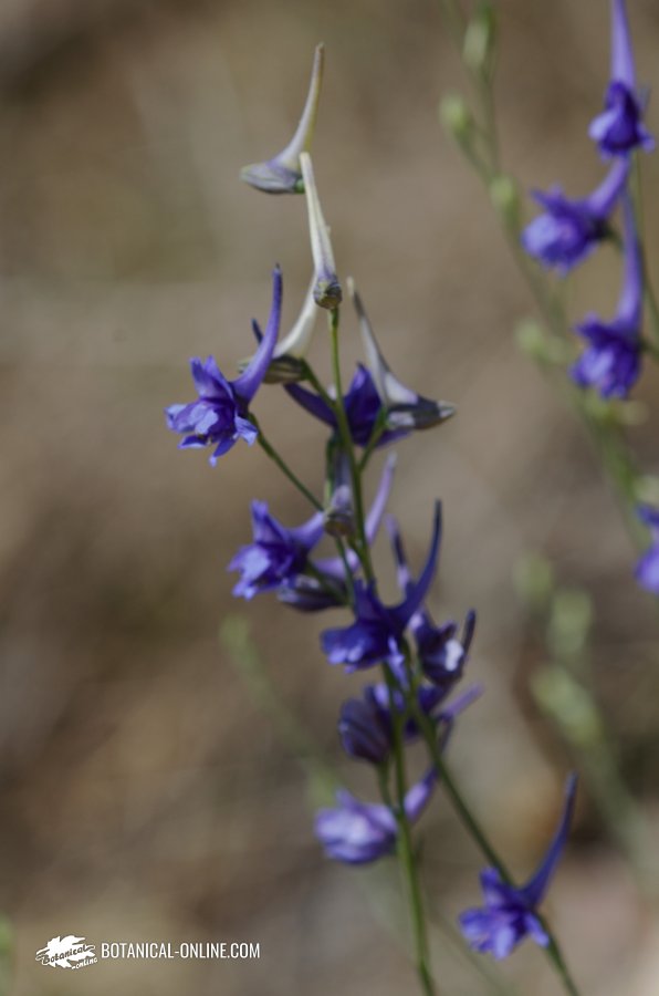
[[[264,190],[266,194],[302,193],[300,154],[308,152],[311,148],[323,82],[324,59],[325,46],[316,45],[306,103],[290,143],[282,152],[265,163],[252,163],[241,169],[240,178],[258,190]]]

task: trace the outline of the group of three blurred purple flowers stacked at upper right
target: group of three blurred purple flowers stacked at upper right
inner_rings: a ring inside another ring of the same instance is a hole
[[[608,172],[587,197],[571,199],[559,187],[535,191],[544,210],[522,235],[526,252],[544,267],[566,274],[613,237],[611,217],[621,204],[625,261],[616,314],[608,321],[590,314],[576,326],[586,345],[572,367],[580,387],[594,388],[604,398],[627,397],[641,371],[644,274],[629,176],[634,153],[655,147],[642,122],[644,103],[636,83],[625,0],[611,0],[610,81],[605,110],[588,132],[602,158],[610,162]]]

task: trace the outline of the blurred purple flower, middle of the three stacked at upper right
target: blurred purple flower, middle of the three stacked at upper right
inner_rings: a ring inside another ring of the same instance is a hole
[[[534,190],[533,196],[544,214],[522,232],[522,246],[529,256],[545,267],[555,267],[562,274],[580,263],[608,235],[608,218],[628,173],[627,160],[615,163],[602,184],[578,200],[565,197],[561,187],[546,193]]]

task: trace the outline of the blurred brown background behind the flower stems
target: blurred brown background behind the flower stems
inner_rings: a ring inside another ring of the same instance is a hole
[[[585,193],[603,169],[585,128],[607,76],[607,3],[500,7],[505,162],[527,186]],[[639,75],[657,94],[659,12],[630,8]],[[268,198],[237,175],[290,137],[318,40],[314,159],[339,271],[357,279],[401,378],[459,407],[401,447],[393,499],[415,563],[443,499],[432,608],[479,610],[470,666],[487,694],[453,762],[526,874],[571,764],[521,692],[537,654],[512,575],[538,549],[594,596],[600,692],[625,748],[646,759],[637,787],[651,805],[655,614],[585,436],[515,347],[531,301],[438,125],[440,94],[466,84],[432,0],[2,0],[0,905],[22,996],[415,992],[378,923],[387,872],[323,859],[304,775],[218,645],[220,620],[245,613],[283,701],[343,766],[336,709],[359,682],[322,658],[326,621],[269,598],[238,603],[224,570],[249,539],[251,497],[289,523],[304,509],[255,448],[211,469],[206,454],[177,452],[163,418],[191,397],[190,355],[231,371],[250,351],[275,261],[286,322],[297,312],[303,198]],[[644,168],[659,263],[656,159]],[[575,318],[611,308],[617,281],[613,255],[589,262],[571,288]],[[355,333],[346,320],[346,371]],[[321,333],[314,357],[322,347]],[[638,396],[656,390],[648,374]],[[317,481],[317,425],[276,390],[257,411]],[[656,422],[635,439],[657,469]],[[584,993],[656,996],[657,933],[586,801],[580,819],[550,910]],[[480,860],[440,793],[425,839],[432,903],[450,921],[478,901]],[[82,973],[34,962],[69,933],[258,941],[261,959]],[[495,992],[446,946],[437,964],[446,994]],[[505,974],[520,993],[557,992],[530,945]]]

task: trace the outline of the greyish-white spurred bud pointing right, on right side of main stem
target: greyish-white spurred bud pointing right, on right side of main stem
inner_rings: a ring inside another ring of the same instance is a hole
[[[383,406],[387,409],[387,425],[394,429],[430,428],[454,415],[456,408],[453,405],[422,397],[415,391],[406,387],[391,373],[387,361],[380,352],[375,333],[368,321],[368,315],[362,303],[362,298],[352,277],[348,277],[347,288],[359,320],[359,331],[362,333],[364,352],[366,353],[366,362]]]

